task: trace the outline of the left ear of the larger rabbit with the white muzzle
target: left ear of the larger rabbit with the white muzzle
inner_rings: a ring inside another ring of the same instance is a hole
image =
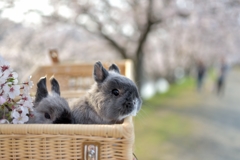
[[[95,81],[101,83],[107,78],[108,71],[105,68],[103,68],[102,63],[98,61],[94,65],[93,75]]]

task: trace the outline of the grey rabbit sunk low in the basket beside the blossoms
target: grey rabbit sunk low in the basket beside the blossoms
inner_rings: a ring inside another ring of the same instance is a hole
[[[37,83],[37,92],[34,101],[33,117],[28,123],[69,124],[72,123],[71,110],[67,101],[60,97],[58,81],[52,77],[51,93],[46,86],[46,77]]]

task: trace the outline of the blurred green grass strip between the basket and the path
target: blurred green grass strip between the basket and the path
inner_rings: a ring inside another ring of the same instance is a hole
[[[192,91],[195,82],[192,78],[174,84],[165,94],[156,94],[143,102],[142,110],[134,119],[135,154],[139,159],[158,160],[166,151],[166,144],[174,139],[187,137],[191,133],[191,122],[187,118],[166,110],[172,101],[181,102],[184,93]]]

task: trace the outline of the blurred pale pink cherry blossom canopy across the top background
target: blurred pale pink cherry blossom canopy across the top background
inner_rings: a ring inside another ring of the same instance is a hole
[[[18,5],[15,1],[5,2],[7,9]],[[38,58],[53,45],[67,50],[64,58],[108,53],[132,59],[139,86],[148,77],[162,76],[174,81],[178,68],[190,72],[199,58],[212,65],[221,56],[236,57],[240,49],[240,6],[236,0],[49,0],[48,3],[44,10],[35,5],[25,13],[26,17],[38,15],[37,27],[1,23],[5,26],[0,26],[0,36],[7,42],[0,41],[0,45],[6,50],[15,49],[14,52],[22,49],[25,54],[36,53]],[[11,34],[6,34],[6,28],[12,29],[8,31]],[[16,42],[13,38],[16,35],[24,38]],[[22,61],[27,62],[26,58]]]

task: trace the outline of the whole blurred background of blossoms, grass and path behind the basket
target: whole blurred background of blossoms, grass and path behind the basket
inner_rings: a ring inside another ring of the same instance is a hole
[[[239,0],[1,0],[0,55],[19,74],[133,62],[138,159],[240,157]]]

